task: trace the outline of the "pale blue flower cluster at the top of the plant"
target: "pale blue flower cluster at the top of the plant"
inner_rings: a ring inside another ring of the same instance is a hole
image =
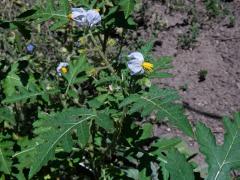
[[[91,28],[100,23],[102,19],[98,10],[85,10],[83,8],[72,8],[72,13],[68,17],[82,28]]]

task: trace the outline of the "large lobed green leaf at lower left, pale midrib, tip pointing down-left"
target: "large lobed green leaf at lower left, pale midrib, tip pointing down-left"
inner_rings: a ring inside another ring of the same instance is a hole
[[[113,129],[113,122],[106,113],[96,114],[84,108],[69,108],[52,114],[40,113],[39,116],[40,119],[34,123],[38,135],[35,143],[38,145],[29,177],[54,158],[58,146],[70,152],[74,145],[74,133],[78,144],[83,148],[89,141],[92,120],[107,131]]]

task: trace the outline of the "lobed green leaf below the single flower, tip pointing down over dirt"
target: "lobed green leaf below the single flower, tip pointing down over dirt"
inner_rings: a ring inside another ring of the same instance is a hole
[[[187,135],[193,136],[191,125],[183,114],[182,107],[174,103],[179,97],[175,90],[160,89],[152,86],[148,92],[142,91],[138,94],[132,94],[120,104],[120,107],[132,106],[129,108],[129,114],[141,112],[143,117],[156,113],[156,118],[163,121],[164,118],[184,131]]]

